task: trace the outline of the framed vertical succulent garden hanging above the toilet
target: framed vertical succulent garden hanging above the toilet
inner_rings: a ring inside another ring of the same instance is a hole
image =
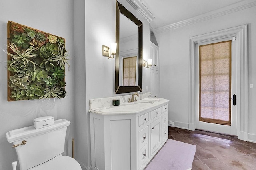
[[[7,31],[8,101],[64,98],[65,39],[12,21]]]

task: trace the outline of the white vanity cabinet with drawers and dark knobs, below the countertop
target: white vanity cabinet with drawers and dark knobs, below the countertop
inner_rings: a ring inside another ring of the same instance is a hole
[[[92,112],[93,170],[143,170],[168,139],[168,100],[138,113]]]

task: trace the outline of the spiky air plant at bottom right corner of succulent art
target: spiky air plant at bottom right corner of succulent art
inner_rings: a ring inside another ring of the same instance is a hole
[[[66,96],[66,91],[57,88],[56,86],[48,87],[44,91],[44,95],[40,97],[40,99],[47,99],[47,98],[64,98]]]

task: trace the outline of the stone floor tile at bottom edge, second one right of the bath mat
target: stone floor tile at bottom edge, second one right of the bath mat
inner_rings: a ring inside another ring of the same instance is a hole
[[[202,160],[211,170],[232,170],[229,166],[218,160],[217,158]]]

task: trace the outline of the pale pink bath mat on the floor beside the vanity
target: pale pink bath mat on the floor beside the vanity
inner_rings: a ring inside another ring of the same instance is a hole
[[[196,145],[168,139],[145,170],[189,170],[196,153]]]

